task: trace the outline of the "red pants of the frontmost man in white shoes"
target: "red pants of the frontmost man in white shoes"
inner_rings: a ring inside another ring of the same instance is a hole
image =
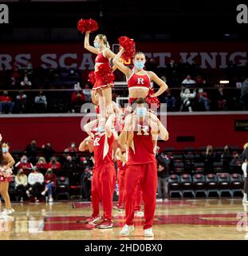
[[[129,165],[125,175],[126,224],[132,225],[136,204],[137,184],[140,182],[144,200],[144,230],[152,227],[155,214],[157,168],[156,162]]]

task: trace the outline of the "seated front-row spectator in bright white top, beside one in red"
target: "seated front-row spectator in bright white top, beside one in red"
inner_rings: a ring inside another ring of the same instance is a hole
[[[33,194],[35,202],[39,202],[41,198],[41,191],[43,187],[44,176],[40,173],[37,167],[33,167],[33,171],[28,176],[28,183],[30,188],[26,190],[27,196]]]

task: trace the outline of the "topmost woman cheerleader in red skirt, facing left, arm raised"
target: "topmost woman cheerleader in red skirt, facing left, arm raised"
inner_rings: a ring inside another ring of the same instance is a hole
[[[85,49],[89,50],[93,54],[96,54],[95,59],[95,78],[96,82],[93,86],[93,91],[96,91],[97,98],[99,99],[100,106],[100,125],[98,126],[99,132],[104,132],[104,123],[106,118],[106,112],[108,114],[113,113],[112,109],[112,86],[113,74],[109,72],[111,70],[110,59],[115,58],[116,54],[109,49],[107,38],[104,34],[97,34],[94,40],[94,46],[89,45],[89,33],[85,32]],[[112,69],[111,71],[113,71]],[[107,77],[104,77],[108,73]]]

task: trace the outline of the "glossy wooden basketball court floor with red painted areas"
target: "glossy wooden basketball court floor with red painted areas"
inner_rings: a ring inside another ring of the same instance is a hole
[[[114,205],[116,202],[114,202]],[[157,202],[154,238],[144,238],[144,218],[135,218],[136,230],[120,237],[124,211],[112,210],[114,227],[99,230],[85,224],[90,202],[14,203],[14,214],[0,218],[0,240],[247,240],[248,205],[241,198],[169,199]]]

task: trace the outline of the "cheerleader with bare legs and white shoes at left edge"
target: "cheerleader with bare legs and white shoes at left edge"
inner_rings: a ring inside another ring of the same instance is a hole
[[[6,210],[2,212],[3,215],[14,213],[14,209],[10,203],[9,182],[11,179],[12,170],[14,166],[14,158],[9,153],[9,146],[6,143],[2,144],[2,135],[0,134],[0,194],[6,203]],[[0,201],[1,210],[1,201]]]

